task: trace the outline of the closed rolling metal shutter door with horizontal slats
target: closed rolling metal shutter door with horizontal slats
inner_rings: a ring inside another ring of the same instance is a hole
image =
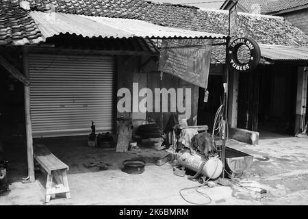
[[[114,127],[114,57],[29,55],[34,138]]]

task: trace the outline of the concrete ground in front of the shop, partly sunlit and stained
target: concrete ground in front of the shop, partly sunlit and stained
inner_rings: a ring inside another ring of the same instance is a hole
[[[155,166],[157,157],[166,152],[144,149],[132,153],[115,153],[115,149],[92,149],[86,138],[50,138],[36,141],[46,145],[70,166],[68,181],[71,199],[57,196],[46,205],[190,205],[181,198],[179,190],[199,185],[187,177],[172,174],[172,166]],[[0,205],[45,205],[46,177],[36,173],[35,183],[21,183],[27,175],[23,142],[7,145],[10,160],[10,187],[0,194]],[[254,156],[251,168],[240,183],[268,190],[257,194],[237,185],[200,188],[210,198],[210,205],[307,205],[308,204],[308,139],[275,136],[259,140],[251,146],[230,140],[228,146]],[[146,159],[142,175],[129,175],[120,170],[121,163],[131,157]],[[90,167],[92,166],[92,167]],[[99,167],[107,167],[100,170]],[[255,189],[257,190],[257,189]],[[196,203],[208,198],[194,190],[183,192]]]

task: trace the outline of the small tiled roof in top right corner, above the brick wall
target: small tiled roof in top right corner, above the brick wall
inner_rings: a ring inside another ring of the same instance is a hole
[[[281,10],[292,9],[303,5],[308,5],[308,0],[278,0],[266,4],[261,13],[271,14]]]

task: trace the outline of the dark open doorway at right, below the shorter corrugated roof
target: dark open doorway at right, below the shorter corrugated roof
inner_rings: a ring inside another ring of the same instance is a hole
[[[294,135],[296,114],[296,66],[273,65],[259,78],[258,131]]]

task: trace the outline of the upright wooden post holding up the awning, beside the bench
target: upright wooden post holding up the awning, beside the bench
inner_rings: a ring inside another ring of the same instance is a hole
[[[27,48],[23,47],[23,73],[25,77],[29,78],[29,62]],[[27,162],[28,162],[28,177],[29,181],[34,182],[34,153],[33,153],[33,139],[32,139],[32,125],[30,113],[30,87],[24,86],[25,92],[25,123],[27,133]]]

